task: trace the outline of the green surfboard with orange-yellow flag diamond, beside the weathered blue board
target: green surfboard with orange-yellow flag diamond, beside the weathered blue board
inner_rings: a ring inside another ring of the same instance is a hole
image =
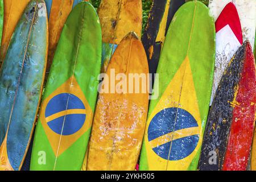
[[[81,2],[64,24],[53,59],[36,126],[32,171],[81,169],[97,100],[101,48],[96,10]]]

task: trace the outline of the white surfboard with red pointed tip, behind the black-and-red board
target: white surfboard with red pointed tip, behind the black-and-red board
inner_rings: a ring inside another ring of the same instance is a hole
[[[229,64],[230,59],[243,43],[242,28],[236,6],[230,2],[225,6],[215,22],[216,28],[216,60],[213,79],[212,105],[218,84]]]

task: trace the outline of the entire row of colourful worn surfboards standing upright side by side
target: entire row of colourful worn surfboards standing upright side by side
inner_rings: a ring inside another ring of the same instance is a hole
[[[256,170],[255,0],[0,2],[0,170]]]

